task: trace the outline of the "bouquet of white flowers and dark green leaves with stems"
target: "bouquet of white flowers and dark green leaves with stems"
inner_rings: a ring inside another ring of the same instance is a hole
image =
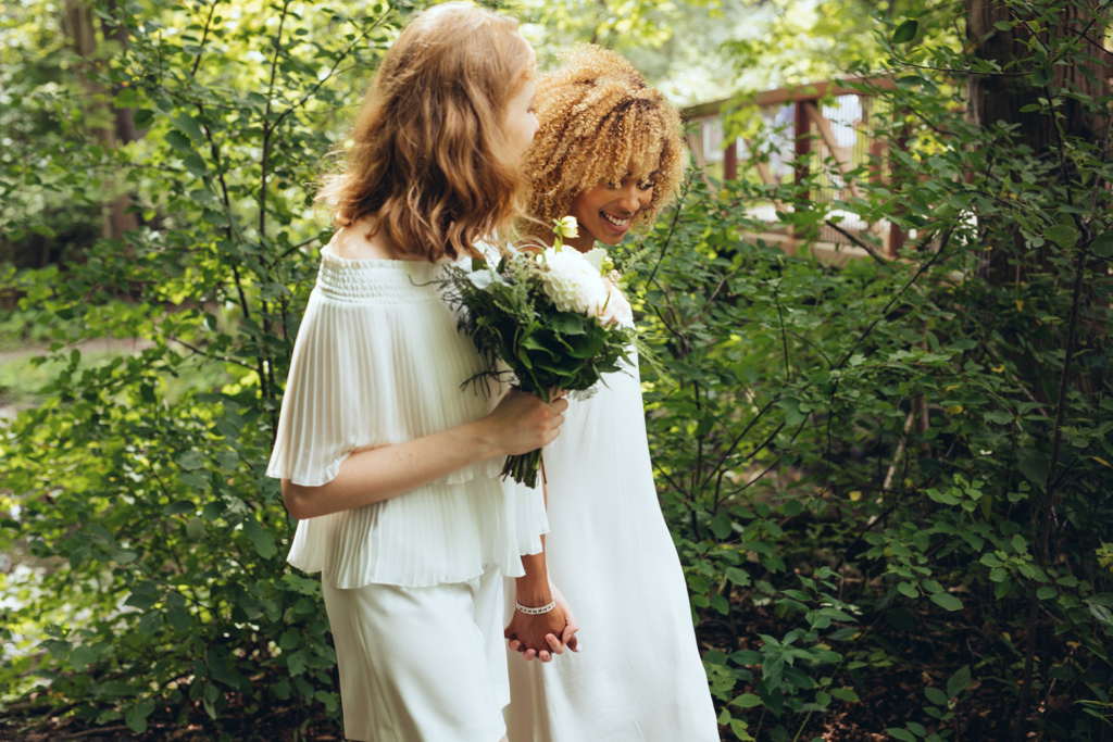
[[[555,221],[552,247],[519,251],[495,267],[475,259],[471,270],[449,269],[446,298],[466,307],[461,329],[486,365],[463,386],[512,374],[522,390],[550,402],[554,388],[588,389],[629,363],[630,303],[605,250],[564,247],[577,229],[575,217],[564,217]],[[534,487],[540,464],[541,449],[510,456],[502,475]]]

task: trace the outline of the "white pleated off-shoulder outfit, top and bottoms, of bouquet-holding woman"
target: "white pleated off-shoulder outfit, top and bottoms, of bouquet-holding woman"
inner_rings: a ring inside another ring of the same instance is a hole
[[[463,263],[463,260],[461,260]],[[352,452],[473,422],[498,404],[432,281],[447,263],[321,251],[267,475],[319,486]],[[503,575],[548,531],[540,489],[489,458],[403,495],[298,521],[287,561],[322,573],[345,738],[496,742],[510,702]]]

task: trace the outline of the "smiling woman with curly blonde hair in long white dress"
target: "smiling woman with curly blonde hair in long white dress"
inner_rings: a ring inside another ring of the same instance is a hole
[[[571,215],[580,236],[565,245],[618,245],[674,196],[680,118],[622,57],[599,47],[567,55],[538,79],[536,116],[522,160],[535,218],[524,228],[533,236],[550,239],[553,219]],[[571,404],[544,467],[549,576],[575,610],[585,649],[560,662],[522,662],[515,651],[549,660],[564,645],[539,630],[543,617],[514,613],[510,739],[717,742],[684,577],[653,484],[636,356],[632,374],[613,374]],[[531,567],[513,590],[529,607],[548,602],[551,585]]]

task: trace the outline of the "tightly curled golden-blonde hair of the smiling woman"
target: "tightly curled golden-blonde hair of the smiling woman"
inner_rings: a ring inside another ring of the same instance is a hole
[[[683,178],[680,113],[629,61],[609,49],[582,44],[560,55],[563,66],[539,76],[541,128],[522,158],[533,188],[522,231],[552,233],[572,201],[601,182],[621,182],[630,164],[649,174],[660,152],[653,197],[632,229],[644,228],[676,196]]]

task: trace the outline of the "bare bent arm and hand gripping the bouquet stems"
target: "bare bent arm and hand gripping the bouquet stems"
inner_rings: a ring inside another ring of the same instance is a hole
[[[524,454],[560,434],[568,400],[551,404],[511,389],[481,419],[381,448],[353,452],[319,487],[282,481],[286,509],[297,520],[370,505],[434,482],[473,462]]]

